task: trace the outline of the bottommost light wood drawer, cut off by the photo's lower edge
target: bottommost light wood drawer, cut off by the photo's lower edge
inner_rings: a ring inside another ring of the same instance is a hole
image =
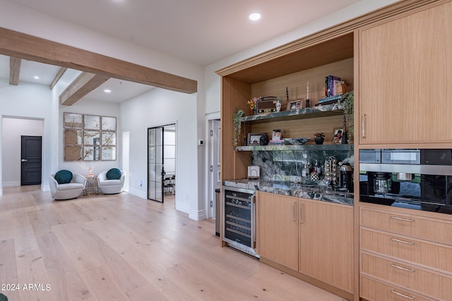
[[[398,288],[365,276],[361,276],[359,286],[359,291],[361,292],[359,296],[369,301],[432,300],[410,290]]]

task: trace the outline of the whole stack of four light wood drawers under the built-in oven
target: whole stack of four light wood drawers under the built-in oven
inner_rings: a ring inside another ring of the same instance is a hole
[[[380,207],[359,207],[360,296],[451,300],[451,221]]]

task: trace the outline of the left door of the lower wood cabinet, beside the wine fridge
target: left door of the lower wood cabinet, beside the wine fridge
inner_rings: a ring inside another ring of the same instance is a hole
[[[259,255],[298,268],[297,197],[258,192]]]

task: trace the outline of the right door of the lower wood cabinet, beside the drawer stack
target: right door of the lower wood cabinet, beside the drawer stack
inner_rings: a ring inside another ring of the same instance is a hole
[[[299,199],[299,271],[353,292],[353,207]]]

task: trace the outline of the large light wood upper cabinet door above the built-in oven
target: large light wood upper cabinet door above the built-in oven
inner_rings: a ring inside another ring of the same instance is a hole
[[[450,142],[452,3],[359,31],[359,143]]]

